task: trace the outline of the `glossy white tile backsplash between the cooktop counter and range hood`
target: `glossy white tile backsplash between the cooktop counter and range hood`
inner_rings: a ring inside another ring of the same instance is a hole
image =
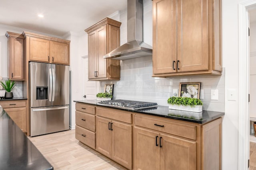
[[[189,78],[152,77],[152,57],[121,61],[119,81],[100,82],[100,92],[105,84],[114,84],[113,98],[157,102],[168,106],[167,99],[173,96],[173,89],[179,89],[180,82],[201,82],[204,90],[203,109],[224,112],[225,68],[222,76],[190,76]],[[218,100],[211,100],[211,90],[218,90]]]

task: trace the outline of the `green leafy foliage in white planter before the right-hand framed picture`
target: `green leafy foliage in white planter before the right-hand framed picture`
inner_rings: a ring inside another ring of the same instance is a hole
[[[182,105],[182,106],[190,106],[190,107],[203,105],[203,102],[200,99],[182,98],[182,97],[175,97],[175,96],[168,98],[167,103],[172,105]]]

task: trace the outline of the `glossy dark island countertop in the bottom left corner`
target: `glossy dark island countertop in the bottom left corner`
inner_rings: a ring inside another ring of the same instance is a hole
[[[0,169],[53,170],[22,130],[0,107]]]

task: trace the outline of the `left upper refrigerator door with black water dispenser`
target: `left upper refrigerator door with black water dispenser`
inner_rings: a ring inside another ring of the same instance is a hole
[[[30,107],[52,106],[52,64],[29,63]]]

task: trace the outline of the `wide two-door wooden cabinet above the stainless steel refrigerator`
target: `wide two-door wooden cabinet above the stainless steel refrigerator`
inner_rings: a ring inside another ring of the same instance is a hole
[[[25,31],[22,34],[26,38],[26,57],[29,61],[65,65],[70,64],[69,40]]]

